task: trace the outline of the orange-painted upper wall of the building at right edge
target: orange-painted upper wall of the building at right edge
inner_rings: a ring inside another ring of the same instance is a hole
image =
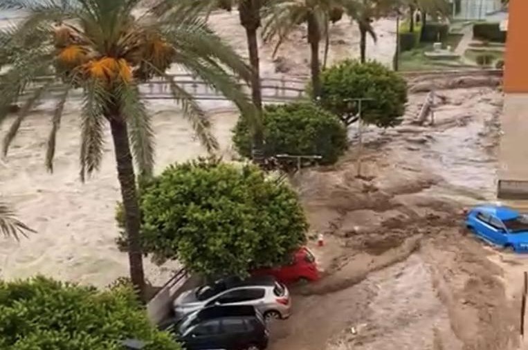
[[[528,93],[528,0],[509,1],[504,92]]]

